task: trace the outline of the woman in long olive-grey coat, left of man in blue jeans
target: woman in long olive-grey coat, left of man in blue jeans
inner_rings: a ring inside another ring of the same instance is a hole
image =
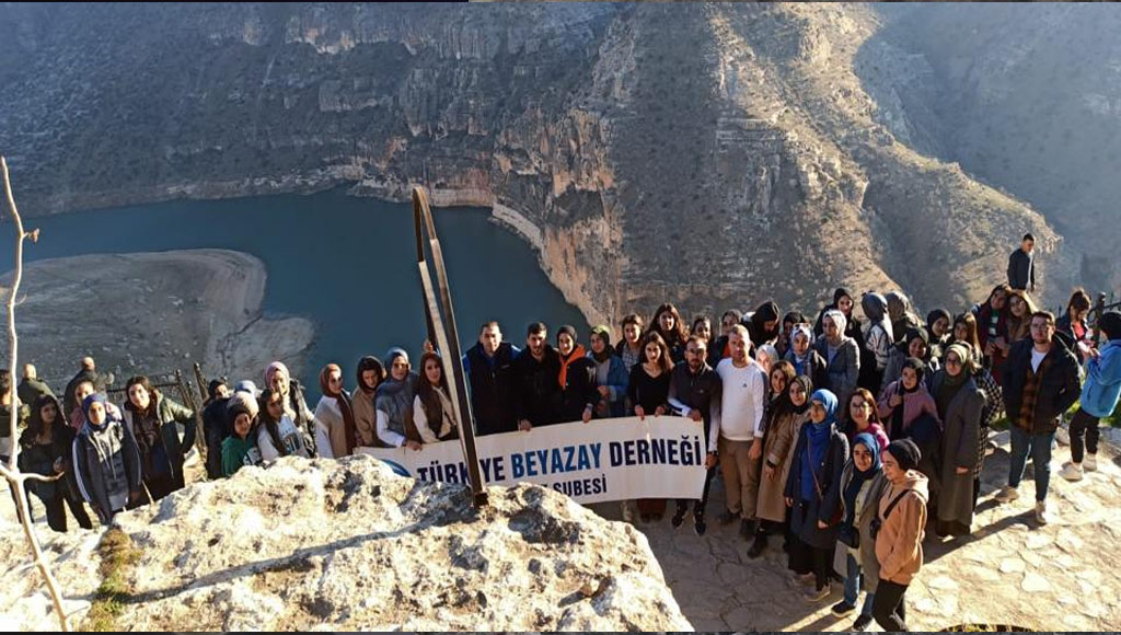
[[[973,523],[973,469],[978,462],[984,395],[973,381],[967,348],[951,344],[946,349],[946,367],[934,375],[930,388],[943,421],[936,532],[969,535]]]

